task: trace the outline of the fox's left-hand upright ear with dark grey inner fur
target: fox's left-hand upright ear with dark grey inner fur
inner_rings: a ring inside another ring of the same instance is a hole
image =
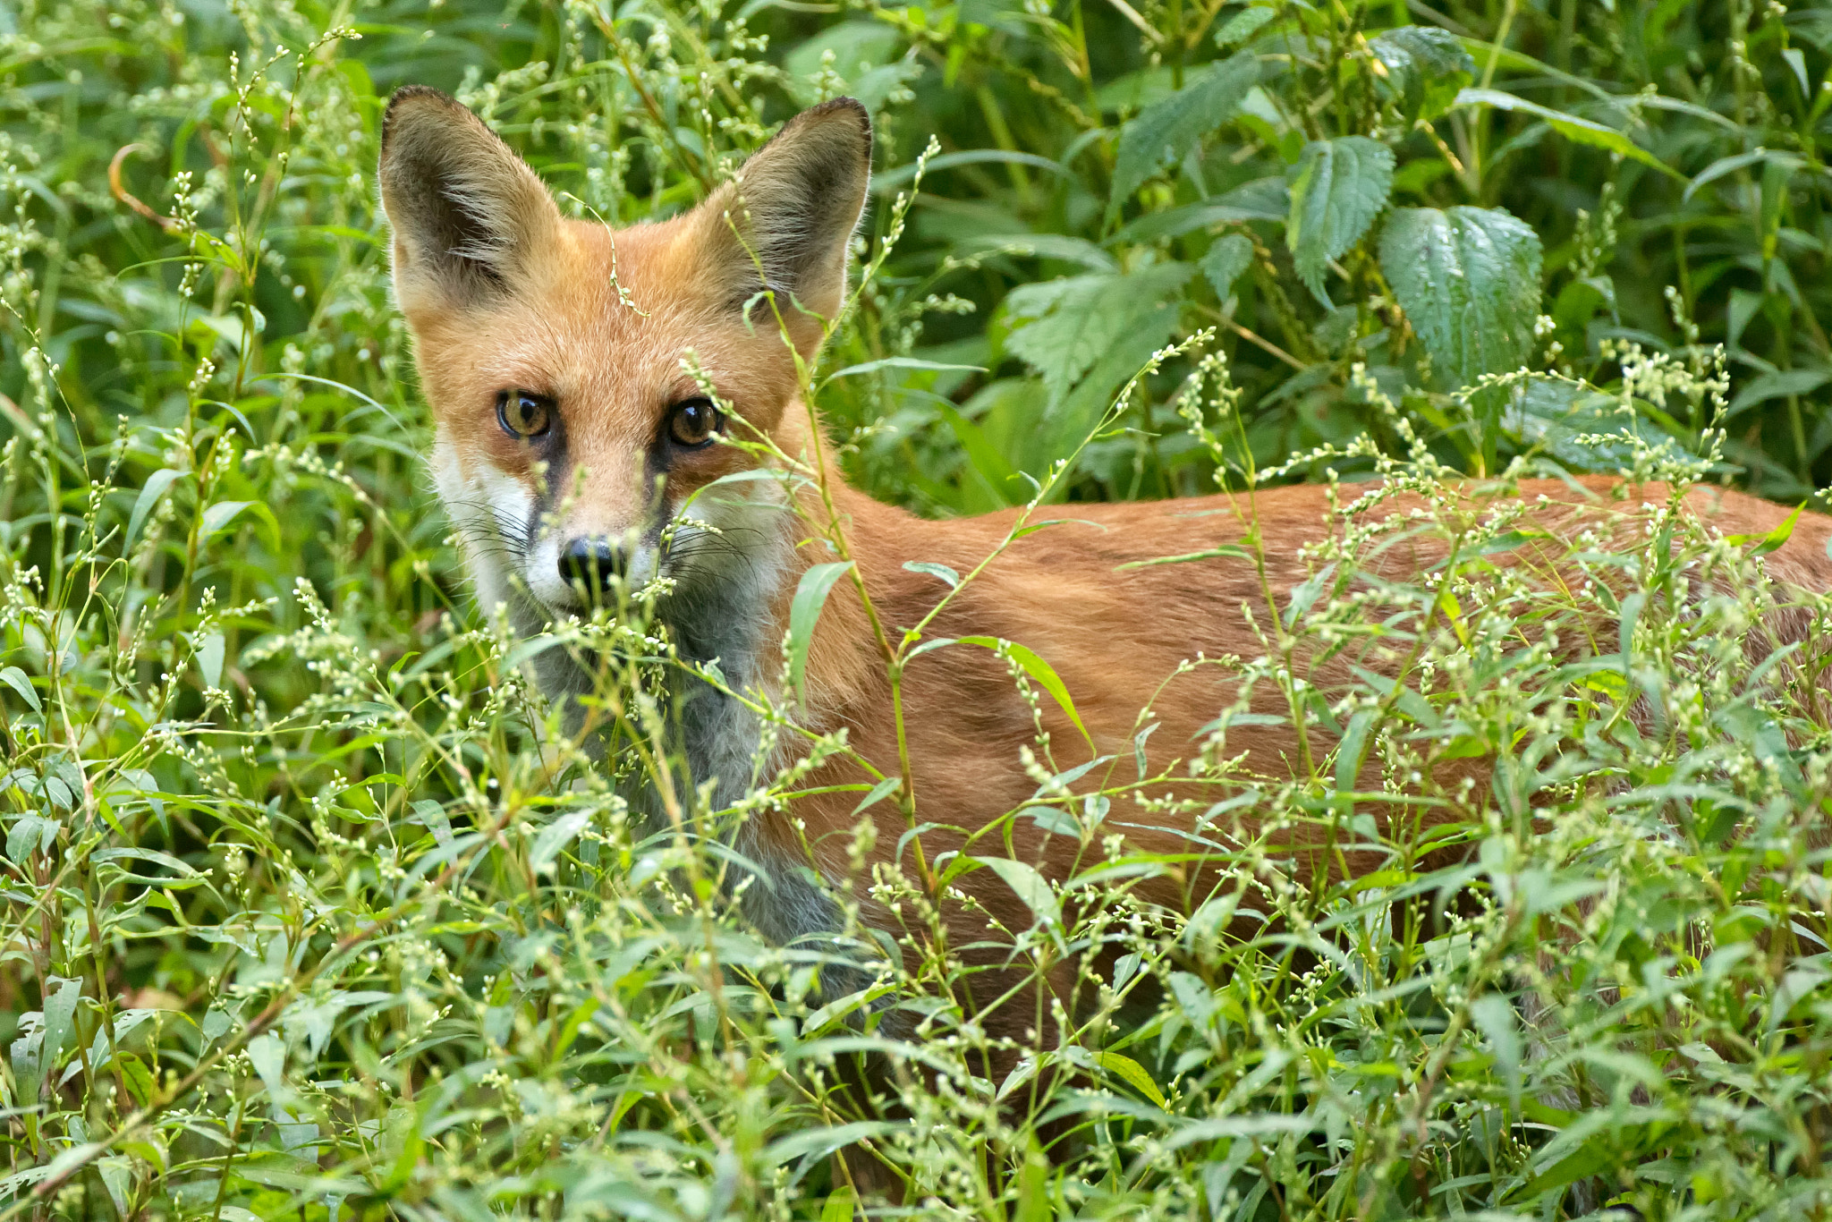
[[[463,308],[506,291],[557,242],[561,213],[528,163],[458,99],[407,86],[381,121],[394,291]]]

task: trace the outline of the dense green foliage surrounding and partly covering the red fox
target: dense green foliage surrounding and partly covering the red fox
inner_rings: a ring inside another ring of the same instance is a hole
[[[746,812],[639,841],[467,605],[372,167],[438,84],[636,222],[865,99],[883,262],[819,405],[923,513],[1526,469],[1799,502],[1828,51],[1832,9],[1744,0],[0,0],[0,1220],[890,1211],[846,1143],[986,1222],[1823,1217],[1832,715],[1750,647],[1775,540],[1662,518],[1548,592],[1444,502],[1458,561],[1370,603],[1345,518],[1235,663],[1314,758],[1207,813],[1193,916],[1103,839],[1143,746],[1101,791],[1039,766],[1011,817],[1103,903],[1011,874],[1015,953],[1119,958],[989,1083],[958,964],[812,991],[722,898],[702,830]],[[1401,682],[1306,687],[1370,606]],[[577,632],[647,727],[639,628]],[[1378,826],[1363,764],[1449,830]],[[1304,885],[1242,813],[1379,868]],[[894,1107],[834,1090],[861,1050]]]

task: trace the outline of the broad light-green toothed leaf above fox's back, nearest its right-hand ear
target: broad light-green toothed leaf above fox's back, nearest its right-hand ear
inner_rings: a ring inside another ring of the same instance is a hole
[[[1006,295],[1015,326],[1006,350],[1042,374],[1050,401],[1059,403],[1194,271],[1189,264],[1154,264],[1132,275],[1094,273],[1015,288]]]

